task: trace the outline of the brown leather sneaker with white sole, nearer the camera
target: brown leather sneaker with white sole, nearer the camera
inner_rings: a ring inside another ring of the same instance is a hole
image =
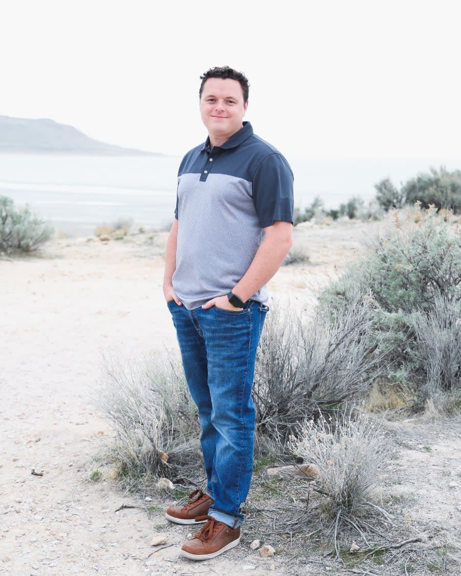
[[[207,522],[191,540],[183,545],[182,556],[190,560],[208,560],[240,544],[240,528],[230,528],[212,516],[201,516],[196,520]]]

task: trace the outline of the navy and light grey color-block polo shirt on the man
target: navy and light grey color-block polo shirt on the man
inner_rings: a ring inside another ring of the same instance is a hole
[[[293,172],[274,146],[244,122],[221,146],[190,150],[177,177],[173,289],[192,310],[228,294],[277,220],[293,222]],[[267,304],[263,286],[251,300]]]

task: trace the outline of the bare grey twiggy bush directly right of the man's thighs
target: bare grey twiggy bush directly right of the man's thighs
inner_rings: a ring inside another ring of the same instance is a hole
[[[360,290],[342,314],[271,303],[261,336],[253,387],[256,430],[283,446],[319,407],[358,399],[378,357],[371,346],[370,298]]]

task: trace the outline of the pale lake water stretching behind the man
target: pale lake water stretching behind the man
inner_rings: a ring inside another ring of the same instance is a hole
[[[88,236],[96,226],[131,219],[137,226],[164,228],[174,218],[176,174],[172,156],[67,156],[0,154],[0,195],[29,204],[56,230]],[[373,185],[390,177],[396,185],[429,166],[461,168],[458,160],[290,159],[295,205],[320,196],[327,209],[352,196],[375,197]]]

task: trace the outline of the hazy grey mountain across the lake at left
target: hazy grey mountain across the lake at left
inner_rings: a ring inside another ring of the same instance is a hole
[[[158,156],[152,152],[99,142],[54,120],[0,116],[1,152],[54,152],[104,156]]]

